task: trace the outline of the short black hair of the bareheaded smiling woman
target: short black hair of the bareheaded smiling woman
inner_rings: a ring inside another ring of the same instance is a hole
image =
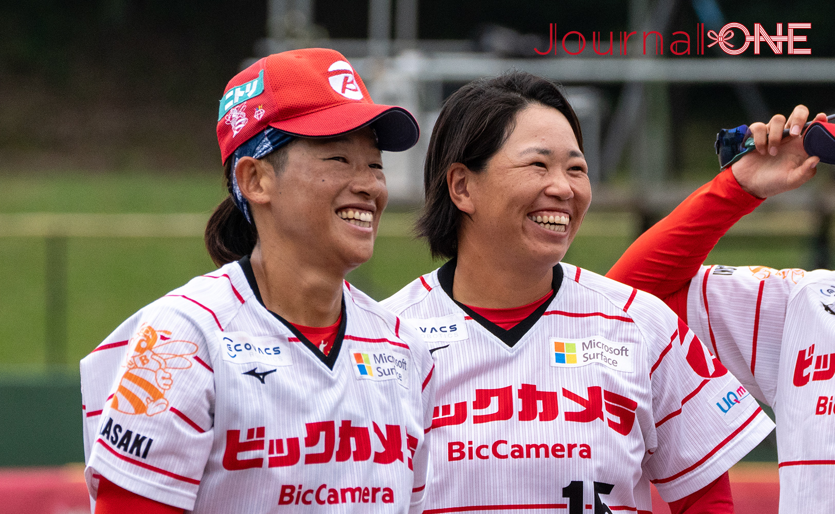
[[[482,171],[513,132],[517,114],[531,103],[563,113],[583,151],[579,119],[560,86],[547,78],[522,71],[479,78],[443,104],[429,139],[423,166],[426,201],[417,220],[417,234],[428,239],[433,257],[451,259],[458,254],[461,211],[449,197],[449,167],[461,163],[473,172]]]

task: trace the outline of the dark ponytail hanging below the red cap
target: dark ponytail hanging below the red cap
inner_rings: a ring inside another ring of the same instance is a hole
[[[233,159],[226,161],[226,188],[231,187],[231,165]],[[211,214],[204,234],[206,249],[217,267],[240,260],[252,253],[258,241],[255,224],[246,221],[243,213],[235,207],[232,195],[227,196]]]

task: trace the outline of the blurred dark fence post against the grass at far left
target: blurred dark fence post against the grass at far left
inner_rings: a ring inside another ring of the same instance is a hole
[[[63,365],[67,361],[67,237],[49,236],[45,243],[46,362]]]

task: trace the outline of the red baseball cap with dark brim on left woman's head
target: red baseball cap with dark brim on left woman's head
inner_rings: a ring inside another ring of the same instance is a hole
[[[267,127],[308,138],[371,125],[381,150],[417,143],[417,121],[406,109],[372,102],[342,53],[303,48],[259,59],[235,75],[220,98],[217,140],[223,162]]]

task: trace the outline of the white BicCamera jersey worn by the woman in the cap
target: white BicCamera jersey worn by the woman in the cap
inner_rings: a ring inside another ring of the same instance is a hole
[[[81,361],[92,498],[104,476],[195,512],[421,511],[427,345],[346,282],[325,356],[254,280],[248,260],[196,277]]]

